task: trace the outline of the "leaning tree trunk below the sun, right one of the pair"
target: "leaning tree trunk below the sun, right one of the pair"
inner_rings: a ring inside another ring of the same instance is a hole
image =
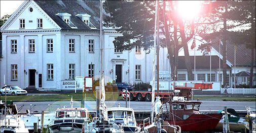
[[[193,80],[193,73],[192,73],[192,68],[191,68],[191,63],[190,63],[190,55],[189,55],[189,48],[188,48],[188,41],[186,39],[186,35],[185,35],[185,27],[184,27],[184,23],[182,22],[182,20],[178,21],[178,25],[180,27],[180,37],[181,37],[181,41],[182,41],[182,46],[184,49],[184,55],[185,55],[185,64],[186,64],[186,68],[187,68],[187,73],[188,73],[188,80],[191,81]]]

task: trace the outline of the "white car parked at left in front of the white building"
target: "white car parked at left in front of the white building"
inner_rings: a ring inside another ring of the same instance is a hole
[[[20,87],[18,86],[5,86],[6,87],[6,90],[9,90],[7,95],[27,95],[27,91],[26,90],[23,90],[21,89]],[[2,95],[5,94],[3,92],[5,92],[5,87],[2,87],[1,89],[1,93]],[[3,92],[2,92],[3,90]]]

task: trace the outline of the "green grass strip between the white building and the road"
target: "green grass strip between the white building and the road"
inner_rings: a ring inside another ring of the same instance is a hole
[[[96,99],[95,93],[86,93],[86,101],[94,101]],[[34,101],[70,101],[73,96],[73,101],[81,101],[83,99],[83,93],[70,93],[70,94],[59,94],[59,95],[30,95],[30,96],[7,96],[7,101],[12,100],[13,102],[34,102]],[[5,96],[0,98],[5,101]],[[117,92],[106,92],[106,100],[119,100],[122,97],[118,96]]]

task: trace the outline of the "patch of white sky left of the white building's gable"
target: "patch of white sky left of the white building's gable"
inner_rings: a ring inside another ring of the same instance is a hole
[[[11,15],[13,14],[23,3],[24,1],[7,1],[7,0],[0,0],[0,18],[2,18],[5,15]]]

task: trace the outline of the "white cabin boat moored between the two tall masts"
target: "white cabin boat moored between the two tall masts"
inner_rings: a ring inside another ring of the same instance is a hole
[[[107,108],[107,117],[109,121],[120,124],[125,132],[140,131],[132,108],[120,107],[120,105],[119,107]]]

